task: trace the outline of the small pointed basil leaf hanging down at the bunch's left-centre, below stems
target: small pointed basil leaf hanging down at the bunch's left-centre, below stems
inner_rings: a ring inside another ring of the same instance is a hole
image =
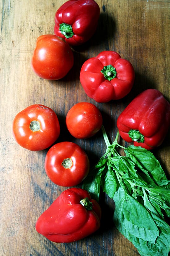
[[[110,166],[108,166],[108,171],[104,176],[102,189],[110,198],[113,198],[113,195],[117,189],[117,182],[115,174]]]

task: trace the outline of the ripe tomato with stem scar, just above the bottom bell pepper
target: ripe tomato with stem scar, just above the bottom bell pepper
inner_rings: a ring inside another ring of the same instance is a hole
[[[84,150],[73,142],[59,142],[45,157],[45,171],[59,186],[76,186],[89,172],[89,159]]]

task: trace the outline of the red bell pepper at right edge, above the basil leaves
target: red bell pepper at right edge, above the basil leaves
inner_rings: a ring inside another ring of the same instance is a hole
[[[170,104],[155,89],[140,93],[117,119],[120,136],[151,150],[162,144],[170,125]]]

